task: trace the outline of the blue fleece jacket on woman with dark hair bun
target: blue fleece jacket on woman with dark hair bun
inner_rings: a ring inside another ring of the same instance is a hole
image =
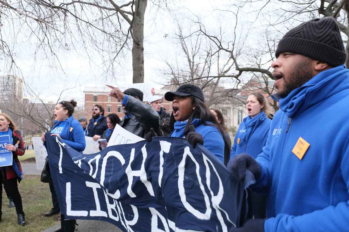
[[[73,116],[70,116],[65,121],[65,128],[62,130],[62,133],[59,134],[62,138],[62,141],[65,144],[71,146],[76,151],[82,152],[83,150],[85,150],[86,141],[84,130],[82,129],[80,122],[75,120]],[[55,121],[55,124],[52,127],[51,131],[54,128],[59,127],[60,124],[61,121]]]

